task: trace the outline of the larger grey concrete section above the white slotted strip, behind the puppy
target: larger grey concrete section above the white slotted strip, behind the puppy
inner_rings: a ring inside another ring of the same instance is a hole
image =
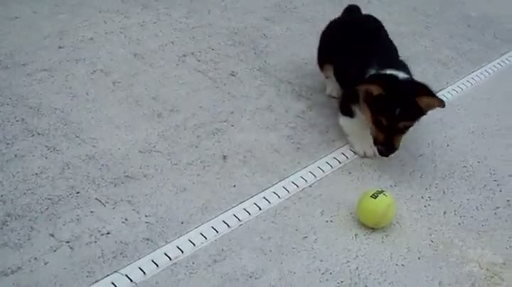
[[[341,146],[346,3],[1,1],[0,286],[92,283]],[[512,47],[506,0],[359,3],[436,88]]]

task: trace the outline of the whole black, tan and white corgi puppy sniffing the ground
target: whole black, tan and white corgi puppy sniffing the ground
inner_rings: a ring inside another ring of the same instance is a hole
[[[350,4],[322,31],[317,55],[326,94],[359,156],[391,156],[427,112],[445,103],[412,77],[383,23]]]

